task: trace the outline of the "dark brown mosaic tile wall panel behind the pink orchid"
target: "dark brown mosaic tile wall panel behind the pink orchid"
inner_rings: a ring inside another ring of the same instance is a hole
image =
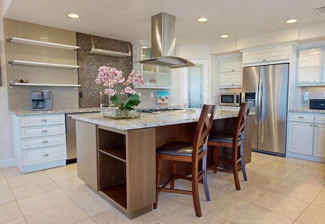
[[[115,67],[123,72],[123,76],[127,77],[128,73],[132,71],[132,57],[116,57],[100,54],[89,54],[87,51],[91,48],[91,39],[94,41],[94,47],[97,49],[118,51],[128,53],[127,45],[129,45],[132,51],[131,43],[126,43],[119,40],[103,38],[101,36],[94,36],[85,33],[77,32],[77,46],[78,50],[78,65],[81,68],[78,69],[79,84],[82,87],[79,89],[82,92],[82,97],[79,97],[79,107],[99,107],[100,106],[100,94],[99,92],[104,90],[103,85],[95,84],[95,77],[98,73],[100,66]],[[102,103],[108,103],[108,96],[102,97]]]

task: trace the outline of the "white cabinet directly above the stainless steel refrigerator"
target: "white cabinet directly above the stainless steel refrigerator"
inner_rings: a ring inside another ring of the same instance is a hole
[[[261,49],[243,51],[243,65],[270,64],[270,62],[288,62],[290,57],[290,47],[277,47],[271,49]]]

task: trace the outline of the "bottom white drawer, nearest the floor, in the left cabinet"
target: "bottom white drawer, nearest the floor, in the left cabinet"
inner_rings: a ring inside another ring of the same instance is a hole
[[[64,160],[67,157],[66,151],[66,145],[39,148],[37,150],[25,150],[22,152],[23,165],[29,166],[56,160]]]

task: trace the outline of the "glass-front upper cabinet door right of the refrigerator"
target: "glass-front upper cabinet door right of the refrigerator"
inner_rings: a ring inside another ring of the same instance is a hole
[[[324,46],[300,48],[297,52],[297,86],[325,85]]]

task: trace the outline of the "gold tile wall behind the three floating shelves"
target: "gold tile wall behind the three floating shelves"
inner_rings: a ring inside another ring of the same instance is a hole
[[[13,36],[37,41],[76,46],[76,32],[4,18],[5,38]],[[5,45],[6,58],[54,64],[77,64],[77,51],[10,43]],[[7,65],[8,66],[8,65]],[[77,69],[13,64],[7,69],[9,81],[28,80],[40,84],[77,84]],[[50,90],[53,109],[78,108],[78,90],[73,87],[14,86],[8,88],[9,109],[29,110],[30,91]]]

